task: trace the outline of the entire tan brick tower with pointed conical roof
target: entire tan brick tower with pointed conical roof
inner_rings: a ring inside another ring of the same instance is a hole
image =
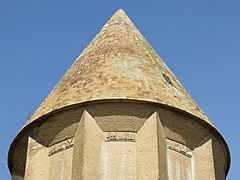
[[[13,180],[224,180],[226,142],[123,10],[9,150]]]

